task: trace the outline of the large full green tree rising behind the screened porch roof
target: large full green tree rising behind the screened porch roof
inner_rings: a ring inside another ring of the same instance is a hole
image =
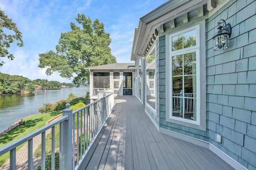
[[[38,67],[47,68],[47,75],[58,71],[60,76],[70,79],[75,73],[73,83],[78,86],[89,80],[86,67],[116,63],[116,58],[111,54],[110,34],[103,23],[98,19],[92,22],[84,14],[78,14],[76,21],[82,29],[71,22],[71,31],[60,35],[56,53],[50,50],[39,54]]]

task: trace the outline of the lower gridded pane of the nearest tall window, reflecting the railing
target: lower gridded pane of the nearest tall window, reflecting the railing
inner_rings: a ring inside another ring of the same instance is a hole
[[[196,52],[172,56],[172,116],[196,121]]]

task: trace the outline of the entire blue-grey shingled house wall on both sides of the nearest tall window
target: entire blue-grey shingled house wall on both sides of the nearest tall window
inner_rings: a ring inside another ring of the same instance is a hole
[[[256,0],[208,2],[216,2],[216,8],[209,3],[207,9],[212,9],[203,17],[192,16],[188,23],[181,21],[175,24],[175,28],[169,26],[164,33],[159,33],[156,42],[157,114],[146,106],[145,111],[159,131],[208,142],[244,167],[256,169]],[[212,37],[218,31],[216,26],[219,20],[226,20],[232,27],[230,48],[214,51]],[[205,105],[201,114],[204,112],[206,115],[201,121],[206,121],[205,129],[166,121],[170,112],[169,71],[172,69],[168,65],[169,35],[198,23],[202,59],[200,88],[201,95],[205,95],[200,101],[201,106]],[[140,58],[143,57],[136,58],[137,65]],[[143,84],[145,86],[145,82]],[[217,137],[221,137],[222,141],[218,142]]]

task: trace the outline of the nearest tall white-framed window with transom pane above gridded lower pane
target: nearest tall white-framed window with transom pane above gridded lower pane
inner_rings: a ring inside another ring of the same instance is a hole
[[[169,35],[169,119],[200,125],[199,25]]]

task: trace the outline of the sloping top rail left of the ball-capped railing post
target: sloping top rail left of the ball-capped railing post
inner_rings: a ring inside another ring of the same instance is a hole
[[[22,143],[24,143],[26,141],[29,141],[33,137],[36,137],[37,135],[45,132],[46,130],[54,127],[55,125],[58,125],[59,123],[61,123],[64,120],[66,120],[66,116],[61,117],[60,119],[53,121],[53,122],[49,123],[48,125],[45,125],[44,127],[41,127],[40,129],[37,129],[36,131],[33,131],[33,132],[29,133],[28,135],[25,135],[24,137],[21,137],[20,139],[17,139],[11,143],[8,143],[7,145],[4,145],[3,147],[0,148],[0,155],[18,147],[19,145],[21,145]]]

